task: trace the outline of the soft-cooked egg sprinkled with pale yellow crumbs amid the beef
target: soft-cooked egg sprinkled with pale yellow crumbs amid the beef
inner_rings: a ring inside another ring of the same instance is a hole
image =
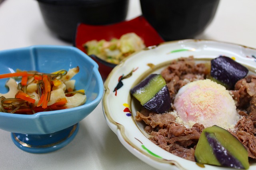
[[[174,107],[187,128],[199,123],[204,127],[217,125],[228,129],[240,119],[228,90],[210,79],[194,81],[180,88]]]

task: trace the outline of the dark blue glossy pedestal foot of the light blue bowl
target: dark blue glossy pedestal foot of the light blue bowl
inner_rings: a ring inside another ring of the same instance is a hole
[[[18,148],[31,153],[47,153],[63,148],[78,132],[79,125],[73,125],[50,134],[11,133],[12,141]]]

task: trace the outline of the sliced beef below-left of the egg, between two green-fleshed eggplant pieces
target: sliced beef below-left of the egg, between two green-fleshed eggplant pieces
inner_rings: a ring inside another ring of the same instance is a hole
[[[168,152],[195,161],[194,148],[204,129],[203,125],[196,123],[192,128],[176,123],[175,117],[170,113],[152,113],[147,109],[137,111],[136,121],[146,123],[145,131],[152,136],[150,140]]]

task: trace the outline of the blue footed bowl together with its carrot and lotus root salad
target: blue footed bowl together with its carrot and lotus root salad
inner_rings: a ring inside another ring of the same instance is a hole
[[[0,128],[26,152],[70,143],[102,99],[97,63],[76,47],[59,45],[2,50],[0,56]]]

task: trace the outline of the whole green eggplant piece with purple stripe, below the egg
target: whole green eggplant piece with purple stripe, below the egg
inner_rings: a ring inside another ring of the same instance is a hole
[[[236,169],[248,169],[248,152],[230,132],[216,125],[205,128],[195,150],[196,162]]]

